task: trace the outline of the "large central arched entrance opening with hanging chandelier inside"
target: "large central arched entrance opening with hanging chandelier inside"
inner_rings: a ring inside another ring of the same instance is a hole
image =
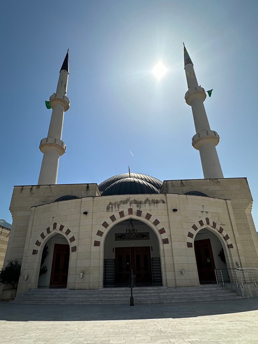
[[[162,286],[159,240],[138,219],[113,226],[104,242],[104,287],[128,287],[133,270],[136,287]]]

